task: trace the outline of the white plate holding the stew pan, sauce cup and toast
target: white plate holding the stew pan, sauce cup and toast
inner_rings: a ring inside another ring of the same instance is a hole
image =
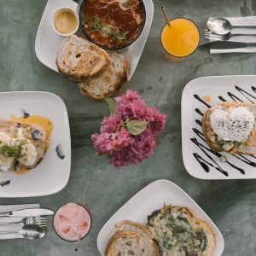
[[[146,9],[146,21],[143,28],[143,32],[140,34],[139,38],[126,47],[125,49],[119,50],[125,54],[131,63],[131,73],[128,80],[131,79],[133,73],[136,70],[137,63],[141,58],[144,46],[146,44],[148,33],[152,24],[154,16],[154,4],[152,0],[143,0]],[[46,7],[44,9],[44,14],[40,25],[38,27],[38,33],[36,38],[35,50],[38,60],[41,61],[46,67],[49,67],[56,72],[58,69],[55,64],[55,58],[57,55],[58,46],[63,41],[63,37],[59,36],[51,26],[51,18],[55,9],[60,7],[70,7],[77,9],[79,12],[79,5],[72,0],[48,0]],[[79,35],[84,38],[83,32],[79,32]]]

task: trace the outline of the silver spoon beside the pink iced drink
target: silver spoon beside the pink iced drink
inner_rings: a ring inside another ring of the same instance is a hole
[[[23,238],[26,239],[35,239],[42,238],[43,236],[45,236],[46,232],[41,226],[38,226],[36,224],[27,224],[21,230],[15,232],[0,232],[0,237],[3,235],[12,236],[16,234],[20,234],[23,236]]]

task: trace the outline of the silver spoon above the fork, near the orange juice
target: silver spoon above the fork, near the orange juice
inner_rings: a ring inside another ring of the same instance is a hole
[[[224,18],[211,18],[210,20],[207,21],[207,27],[209,30],[212,32],[219,34],[219,35],[224,35],[230,32],[232,28],[237,28],[237,27],[244,27],[244,28],[256,28],[256,25],[252,26],[233,26],[231,25],[229,20],[226,20]]]

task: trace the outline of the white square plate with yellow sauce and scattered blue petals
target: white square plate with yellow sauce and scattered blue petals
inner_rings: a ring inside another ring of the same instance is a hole
[[[0,180],[10,180],[0,187],[0,197],[28,197],[54,194],[68,181],[71,164],[70,131],[67,108],[59,96],[48,92],[0,93],[0,117],[21,116],[21,108],[31,115],[42,115],[53,122],[49,148],[42,162],[22,175],[0,172]],[[61,143],[65,154],[61,160],[55,153]]]

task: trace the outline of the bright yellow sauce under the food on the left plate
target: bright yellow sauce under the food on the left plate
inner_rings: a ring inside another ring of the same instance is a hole
[[[51,131],[53,130],[53,123],[51,122],[51,120],[40,115],[31,115],[26,119],[24,117],[12,117],[11,120],[19,123],[42,125],[44,127],[44,130],[46,131],[45,146],[46,146],[46,149],[49,148],[49,138],[50,138]],[[15,174],[24,174],[30,170],[31,169],[26,169],[25,166],[21,166],[20,170],[15,171]]]

